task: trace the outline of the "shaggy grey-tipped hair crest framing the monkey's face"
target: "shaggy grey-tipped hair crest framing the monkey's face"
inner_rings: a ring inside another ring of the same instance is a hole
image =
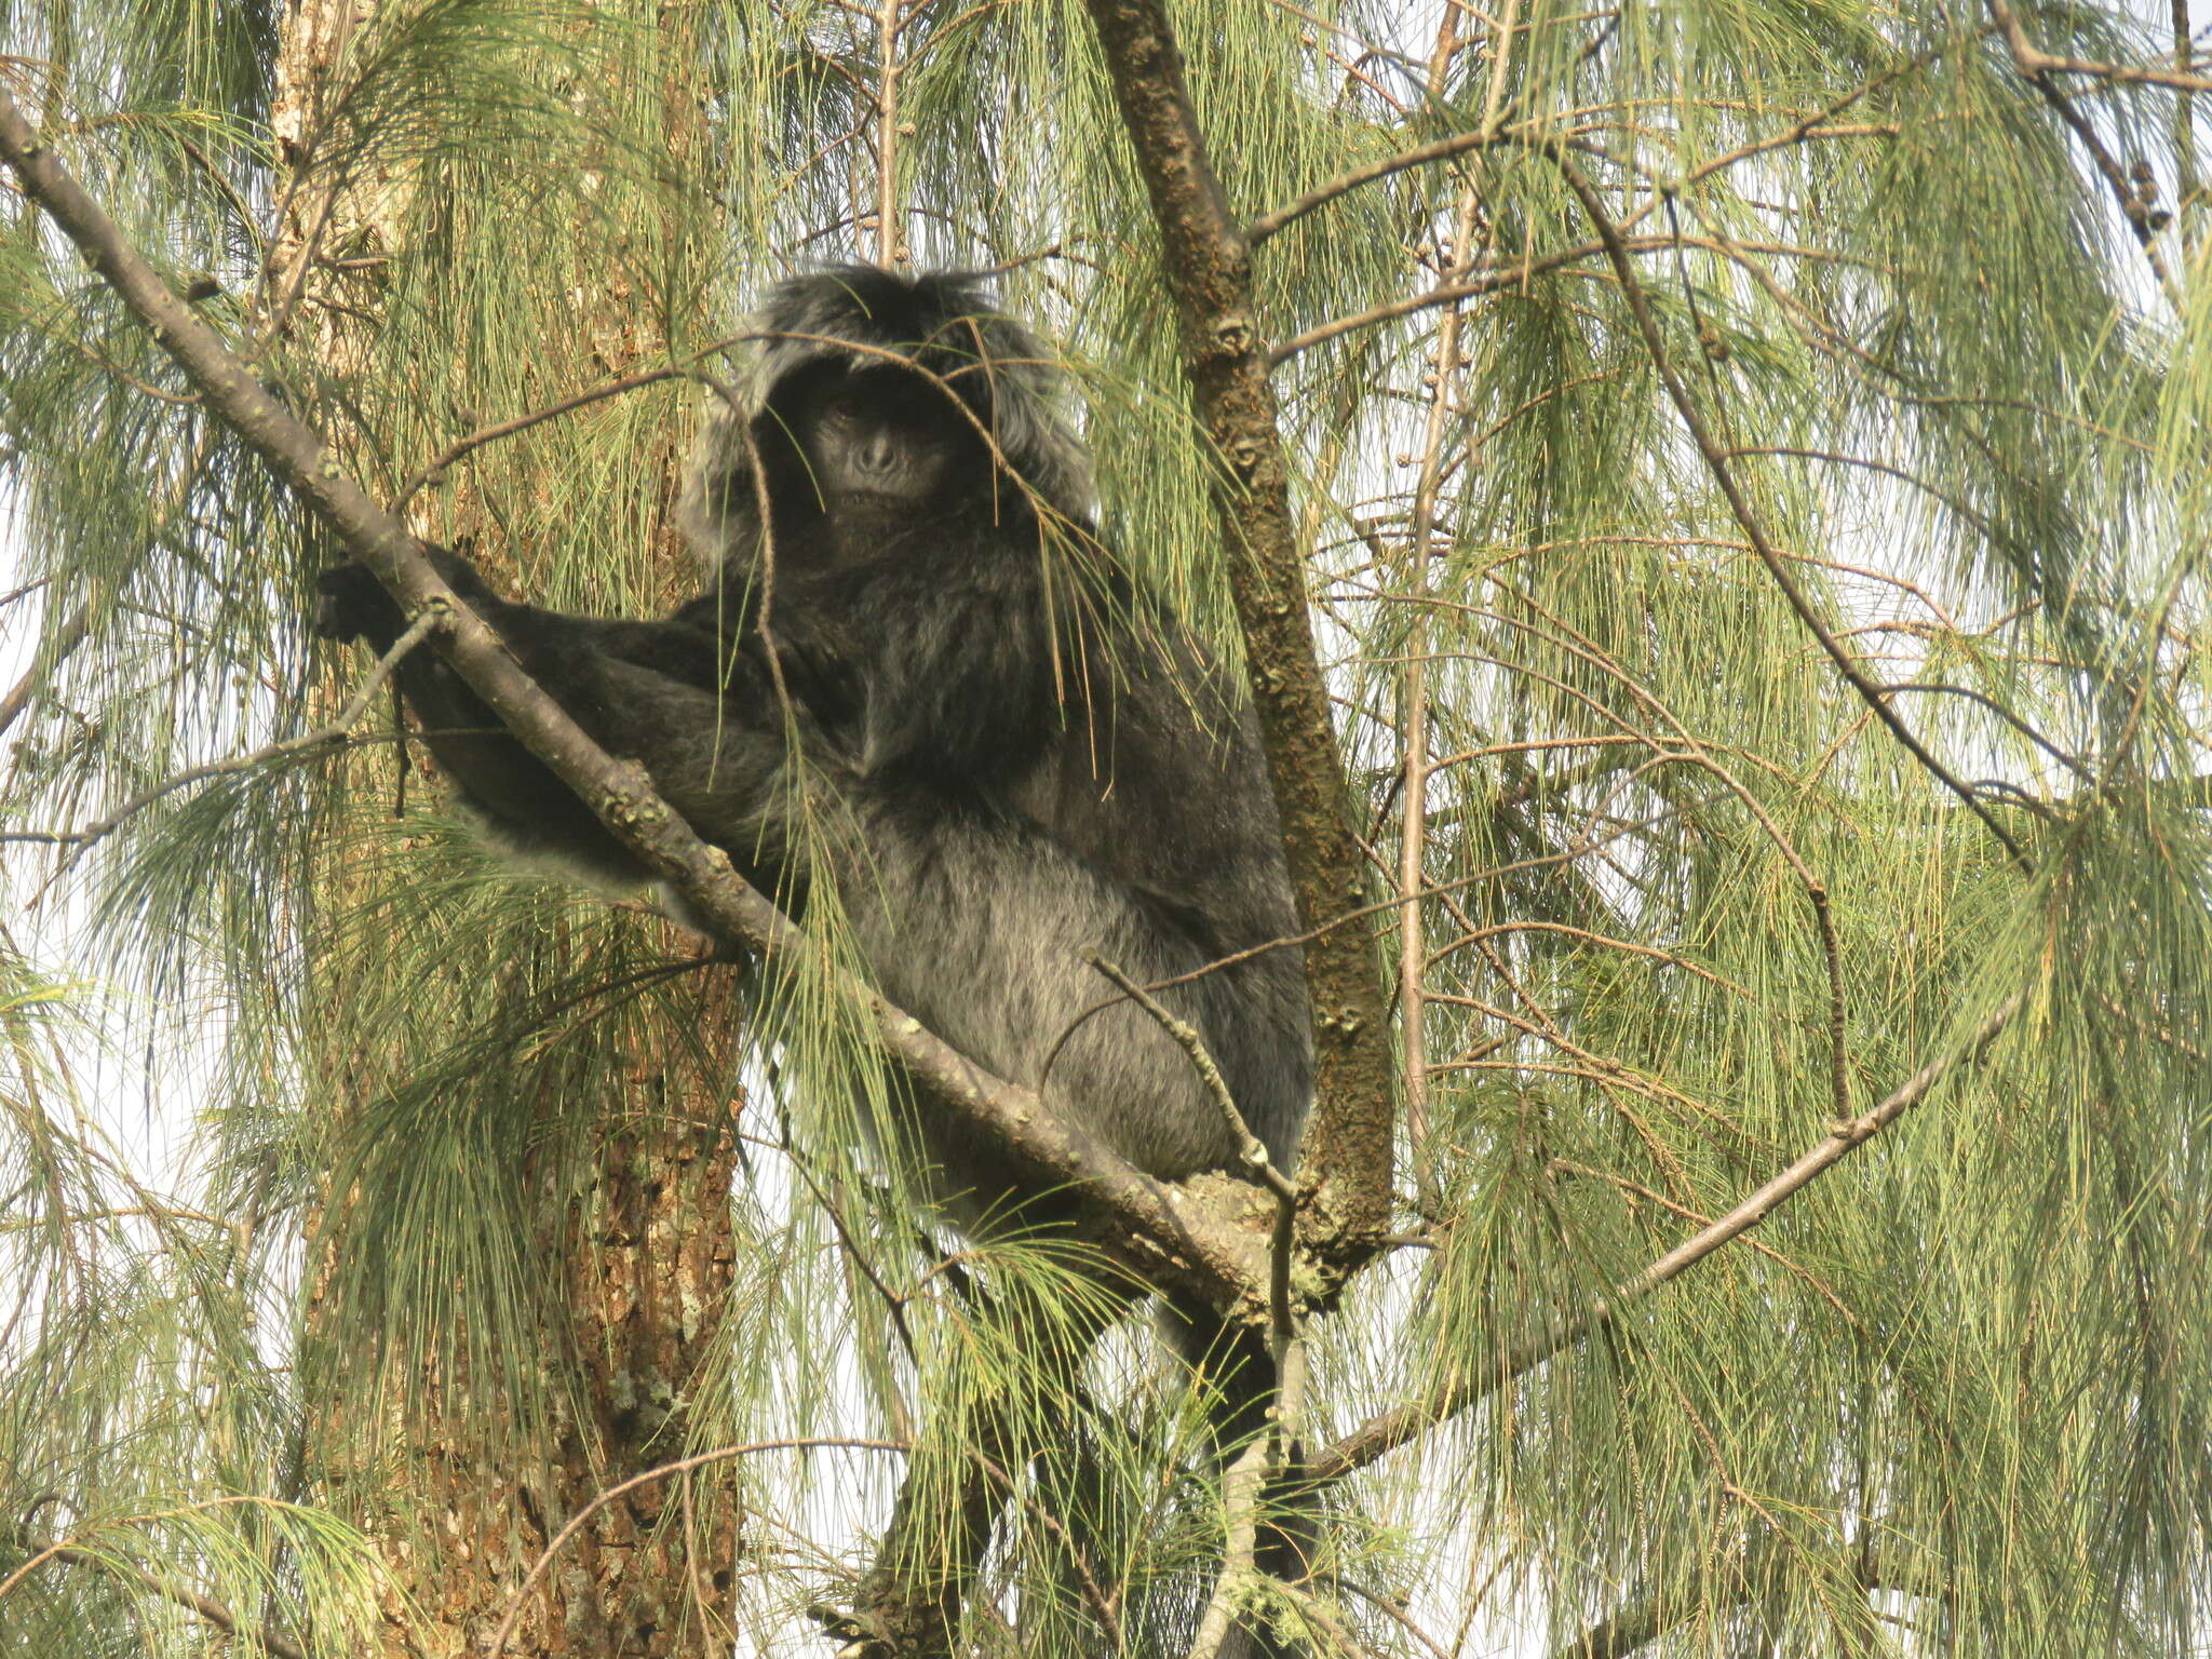
[[[1064,518],[1091,518],[1091,453],[1066,418],[1066,376],[1026,327],[960,272],[900,276],[834,265],[792,276],[752,316],[757,343],[728,398],[712,394],[677,502],[677,526],[712,571],[759,557],[754,445],[794,374],[830,361],[854,369],[909,363],[973,414],[1020,487]],[[947,420],[962,420],[956,409]]]

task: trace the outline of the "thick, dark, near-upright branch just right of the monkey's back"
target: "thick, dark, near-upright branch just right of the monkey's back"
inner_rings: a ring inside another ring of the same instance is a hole
[[[1088,9],[1152,199],[1161,265],[1181,323],[1183,372],[1223,462],[1214,511],[1230,591],[1283,818],[1290,880],[1301,920],[1314,927],[1360,905],[1360,852],[1345,814],[1329,699],[1314,659],[1305,551],[1290,513],[1250,248],[1208,161],[1159,0],[1088,0]],[[1301,1181],[1314,1190],[1323,1217],[1314,1243],[1352,1265],[1389,1228],[1389,1024],[1363,929],[1314,938],[1305,969],[1318,1077]]]

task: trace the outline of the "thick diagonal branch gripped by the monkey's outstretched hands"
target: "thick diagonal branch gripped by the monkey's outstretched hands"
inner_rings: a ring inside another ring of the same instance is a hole
[[[451,608],[451,628],[438,637],[438,653],[507,730],[599,814],[624,847],[675,885],[719,938],[757,951],[799,947],[799,933],[783,911],[737,878],[728,854],[690,832],[655,794],[641,768],[608,757],[522,672],[498,633],[436,575],[416,538],[369,500],[341,471],[336,456],[161,283],[115,221],[40,142],[4,88],[0,159],[22,181],[24,195],[69,234],[86,263],[206,394],[206,407],[268,462],[407,615]],[[1026,1181],[1040,1188],[1066,1186],[1082,1194],[1082,1237],[1148,1283],[1172,1283],[1214,1305],[1245,1296],[1256,1301],[1263,1294],[1265,1267],[1259,1252],[1190,1192],[1130,1168],[1046,1110],[1033,1091],[991,1077],[880,995],[867,995],[865,1009],[885,1053],[931,1097],[936,1110],[1002,1146]]]

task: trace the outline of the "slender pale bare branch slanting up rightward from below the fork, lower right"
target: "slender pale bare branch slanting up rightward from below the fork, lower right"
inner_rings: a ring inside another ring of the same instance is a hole
[[[1498,1363],[1491,1369],[1460,1380],[1433,1400],[1396,1407],[1369,1418],[1314,1458],[1314,1480],[1336,1480],[1340,1475],[1349,1475],[1354,1469],[1365,1469],[1385,1451],[1394,1451],[1409,1440],[1416,1440],[1447,1418],[1458,1416],[1526,1371],[1533,1371],[1555,1354],[1564,1354],[1582,1338],[1604,1329],[1630,1303],[1650,1296],[1663,1283],[1679,1279],[1721,1245],[1741,1239],[1745,1232],[1774,1214],[1774,1210],[1794,1199],[1827,1170],[1927,1099],[1936,1084],[1940,1084],[1960,1060],[1971,1060],[1982,1053],[1982,1048],[1989,1046],[1989,1040],[1995,1037],[2015,1013],[2020,1013],[2020,998],[2011,998],[2002,1009],[1989,1015],[1989,1020],[1984,1020],[1982,1026],[1964,1044],[1960,1044],[1960,1048],[1938,1055],[1898,1084],[1898,1088],[1878,1106],[1860,1117],[1832,1124],[1825,1139],[1803,1152],[1785,1170],[1763,1181],[1759,1190],[1743,1199],[1743,1203],[1723,1214],[1710,1228],[1699,1228],[1694,1234],[1644,1267],[1644,1272],[1624,1279],[1613,1287],[1610,1296],[1593,1303],[1579,1318],[1571,1318],[1542,1336],[1533,1336],[1526,1343],[1506,1349],[1498,1356]]]

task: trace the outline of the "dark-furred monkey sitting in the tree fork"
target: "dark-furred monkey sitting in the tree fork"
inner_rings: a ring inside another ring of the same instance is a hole
[[[772,290],[757,327],[677,509],[706,593],[608,622],[500,599],[440,551],[442,573],[752,883],[799,909],[832,880],[869,973],[931,1031],[1020,1084],[1064,1037],[1053,1110],[1159,1177],[1232,1166],[1150,1018],[1082,1020],[1113,995],[1084,956],[1152,982],[1298,931],[1250,708],[1095,535],[1060,374],[973,283],[823,272]],[[389,648],[403,617],[341,566],[319,626]],[[414,653],[398,677],[495,834],[646,878],[445,664]],[[1296,949],[1161,1000],[1287,1168],[1312,1086]],[[969,1225],[1033,1197],[989,1148],[918,1133]]]

